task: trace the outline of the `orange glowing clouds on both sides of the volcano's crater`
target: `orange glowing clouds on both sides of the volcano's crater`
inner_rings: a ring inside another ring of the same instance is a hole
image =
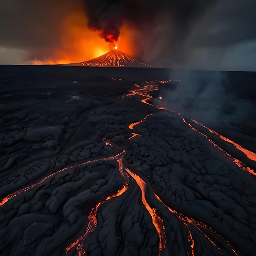
[[[87,17],[83,10],[75,10],[69,13],[60,22],[58,29],[60,44],[51,52],[47,52],[44,58],[35,58],[30,61],[34,65],[77,63],[96,58],[109,51],[109,45],[100,36],[98,31],[87,27]],[[130,56],[136,54],[134,46],[134,33],[128,24],[121,27],[121,35],[115,49]]]

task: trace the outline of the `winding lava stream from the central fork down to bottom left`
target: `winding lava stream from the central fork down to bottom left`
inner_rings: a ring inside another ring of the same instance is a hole
[[[119,154],[120,155],[120,154]],[[98,209],[99,207],[106,201],[115,198],[119,195],[122,195],[129,187],[129,177],[127,175],[127,173],[124,172],[124,166],[123,166],[123,157],[125,155],[125,151],[123,151],[120,155],[120,158],[117,159],[117,162],[119,164],[119,172],[120,174],[123,176],[123,186],[121,187],[121,189],[119,189],[116,193],[114,193],[113,195],[108,196],[107,198],[103,199],[102,201],[98,202],[94,207],[92,207],[89,215],[88,215],[88,227],[86,229],[85,234],[83,234],[83,236],[79,237],[76,241],[74,241],[70,246],[68,246],[65,251],[66,254],[70,251],[70,249],[72,249],[74,246],[76,246],[77,244],[79,244],[77,246],[77,252],[78,254],[82,254],[81,250],[83,250],[83,243],[85,238],[90,235],[97,227],[97,213],[98,213]]]

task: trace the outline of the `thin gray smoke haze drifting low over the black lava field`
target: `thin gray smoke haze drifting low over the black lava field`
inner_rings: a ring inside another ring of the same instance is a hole
[[[174,86],[161,90],[161,94],[168,108],[187,120],[195,119],[211,127],[227,126],[243,122],[253,110],[248,99],[232,91],[236,85],[226,72],[174,70],[170,80],[176,79],[181,81],[173,82]]]

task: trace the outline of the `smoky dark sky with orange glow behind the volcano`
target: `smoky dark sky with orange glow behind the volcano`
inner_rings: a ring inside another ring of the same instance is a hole
[[[0,64],[81,57],[78,41],[89,54],[121,32],[152,66],[256,71],[255,10],[255,0],[1,0]]]

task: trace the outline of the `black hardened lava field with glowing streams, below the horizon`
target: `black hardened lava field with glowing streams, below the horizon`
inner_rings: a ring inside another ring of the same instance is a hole
[[[254,255],[255,74],[213,124],[171,72],[1,67],[1,255]]]

